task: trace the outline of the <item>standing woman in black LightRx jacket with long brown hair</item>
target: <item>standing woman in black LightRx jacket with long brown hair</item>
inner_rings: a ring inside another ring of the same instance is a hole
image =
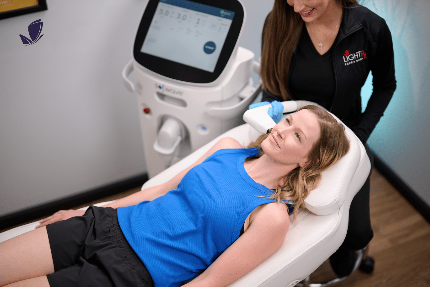
[[[275,0],[264,23],[261,54],[262,101],[316,102],[363,144],[396,89],[390,30],[356,0]],[[369,71],[373,93],[361,113],[360,90]],[[372,153],[365,148],[373,168]],[[350,274],[355,250],[373,237],[369,188],[370,174],[352,201],[344,243],[330,257],[340,277]]]

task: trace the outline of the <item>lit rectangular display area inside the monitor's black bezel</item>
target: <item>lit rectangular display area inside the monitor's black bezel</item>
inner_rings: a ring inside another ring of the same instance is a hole
[[[234,12],[187,0],[160,0],[141,52],[213,72]]]

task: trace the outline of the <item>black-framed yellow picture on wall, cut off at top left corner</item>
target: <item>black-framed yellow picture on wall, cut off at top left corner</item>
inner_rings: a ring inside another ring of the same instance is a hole
[[[46,0],[0,0],[0,19],[48,10]]]

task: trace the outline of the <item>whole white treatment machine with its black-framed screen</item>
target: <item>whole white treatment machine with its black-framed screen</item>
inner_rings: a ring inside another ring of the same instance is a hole
[[[238,45],[245,21],[240,0],[148,0],[122,75],[150,178],[243,123],[261,90],[254,53]]]

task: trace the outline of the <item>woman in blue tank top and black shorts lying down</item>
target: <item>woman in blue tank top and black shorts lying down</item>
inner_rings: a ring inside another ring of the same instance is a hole
[[[162,185],[59,211],[0,243],[0,286],[173,287],[197,275],[184,286],[227,286],[279,249],[289,213],[349,142],[328,112],[305,106],[250,147],[221,139]]]

